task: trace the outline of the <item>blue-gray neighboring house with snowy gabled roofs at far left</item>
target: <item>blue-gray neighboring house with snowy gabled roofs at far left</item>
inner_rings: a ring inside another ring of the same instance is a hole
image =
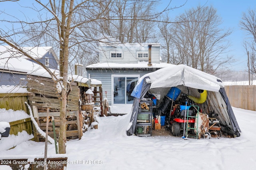
[[[58,69],[58,59],[52,47],[23,47],[24,51],[50,69]],[[0,86],[26,86],[26,74],[44,69],[10,46],[0,46]]]

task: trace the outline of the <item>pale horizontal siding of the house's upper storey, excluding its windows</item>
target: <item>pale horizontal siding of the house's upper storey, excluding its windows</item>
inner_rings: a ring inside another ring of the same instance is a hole
[[[148,52],[148,44],[122,44],[117,47],[104,46],[100,51],[100,63],[138,63],[137,51]],[[122,52],[122,58],[110,58],[110,52]],[[152,44],[151,63],[160,62],[160,44]]]

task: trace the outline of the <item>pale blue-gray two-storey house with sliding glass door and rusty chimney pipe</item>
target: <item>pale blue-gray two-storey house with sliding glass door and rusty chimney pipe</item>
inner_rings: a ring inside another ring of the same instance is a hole
[[[170,66],[161,63],[160,44],[101,44],[101,47],[100,62],[86,66],[86,70],[88,78],[102,82],[103,93],[106,93],[110,105],[132,104],[133,97],[130,94],[138,79],[144,74]],[[151,64],[148,64],[150,59]]]

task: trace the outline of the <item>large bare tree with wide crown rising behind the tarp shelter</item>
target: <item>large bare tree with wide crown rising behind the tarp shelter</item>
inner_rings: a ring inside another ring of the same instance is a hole
[[[192,8],[176,19],[173,40],[182,63],[213,74],[232,61],[221,57],[228,47],[225,38],[231,33],[220,29],[221,23],[212,6]]]

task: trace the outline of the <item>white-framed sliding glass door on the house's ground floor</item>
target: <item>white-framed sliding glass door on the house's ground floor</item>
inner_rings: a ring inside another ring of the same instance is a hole
[[[138,82],[139,75],[112,75],[112,101],[114,104],[132,104],[132,90]]]

